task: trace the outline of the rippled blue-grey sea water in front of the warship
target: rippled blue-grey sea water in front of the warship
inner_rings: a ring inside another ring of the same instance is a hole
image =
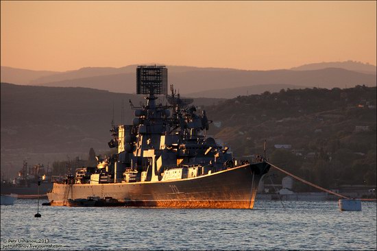
[[[376,250],[376,202],[362,203],[361,212],[341,212],[337,202],[283,202],[283,208],[259,201],[253,210],[41,206],[42,217],[35,218],[37,201],[17,200],[1,206],[1,250],[38,244],[49,250]]]

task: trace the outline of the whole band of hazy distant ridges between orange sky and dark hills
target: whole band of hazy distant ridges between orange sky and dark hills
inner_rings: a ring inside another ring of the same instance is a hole
[[[330,68],[315,69],[328,66]],[[334,66],[354,67],[352,69],[360,71],[334,68]],[[19,69],[17,76],[14,77],[17,82],[11,81],[12,74],[9,73],[9,67],[1,67],[1,81],[3,82],[3,78],[6,77],[7,81],[4,82],[15,84],[84,87],[116,93],[135,93],[136,67],[137,65],[134,64],[121,68],[86,67],[75,71],[59,73],[31,71],[32,75],[29,74],[30,71],[25,70],[24,74],[24,70]],[[352,61],[337,62],[337,64],[335,62],[307,64],[291,70],[281,69],[271,71],[167,66],[169,84],[174,84],[175,88],[181,94],[188,95],[191,93],[193,97],[215,98],[225,98],[224,96],[227,96],[226,98],[233,98],[238,95],[247,95],[248,90],[250,90],[250,94],[263,93],[264,91],[278,91],[276,88],[279,86],[281,88],[345,88],[358,84],[376,86],[376,75],[369,71],[373,67],[369,64]],[[368,71],[367,73],[362,73],[361,69]],[[3,72],[5,77],[3,77]],[[23,77],[23,81],[29,81],[20,83],[20,77]]]

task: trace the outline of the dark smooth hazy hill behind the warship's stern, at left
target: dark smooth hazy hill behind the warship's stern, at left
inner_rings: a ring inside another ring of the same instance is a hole
[[[131,123],[141,95],[91,88],[21,86],[1,83],[1,168],[22,160],[43,162],[108,151],[114,106],[115,123]],[[221,99],[195,99],[197,106]],[[124,112],[122,115],[122,106]],[[122,119],[123,118],[123,119]],[[18,171],[18,170],[16,170]]]

